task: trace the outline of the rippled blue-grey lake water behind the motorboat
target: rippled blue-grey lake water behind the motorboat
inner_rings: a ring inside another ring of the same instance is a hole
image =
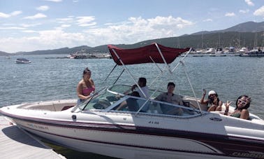
[[[111,59],[45,58],[62,56],[66,55],[11,56],[11,60],[0,57],[0,107],[21,102],[77,99],[76,85],[85,67],[92,71],[96,90],[113,83],[122,71],[122,67],[117,67],[105,81],[115,66]],[[32,63],[15,64],[17,57],[25,57]],[[171,67],[175,67],[178,61],[175,60]],[[249,111],[264,118],[264,57],[186,57],[184,64],[196,97],[201,97],[203,88],[207,92],[216,90],[223,102],[230,100],[235,103],[240,95],[249,95],[252,100]],[[159,67],[163,68],[162,65]],[[176,93],[193,96],[182,65],[174,75],[165,73],[153,85],[150,84],[154,78],[161,74],[155,64],[131,65],[128,68],[136,81],[141,76],[146,77],[147,85],[161,90],[166,90],[168,81],[173,81]],[[125,71],[117,83],[132,85],[133,80]]]

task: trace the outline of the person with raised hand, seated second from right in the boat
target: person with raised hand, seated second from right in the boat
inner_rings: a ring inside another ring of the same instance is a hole
[[[223,102],[219,99],[217,92],[210,90],[208,92],[208,99],[205,99],[206,90],[203,89],[203,96],[200,99],[200,104],[208,104],[209,109],[207,111],[221,111]]]

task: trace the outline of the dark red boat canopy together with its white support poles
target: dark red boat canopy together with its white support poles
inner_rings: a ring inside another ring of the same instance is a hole
[[[118,48],[116,46],[108,45],[108,49],[110,50],[110,53],[112,55],[112,59],[116,63],[115,67],[117,67],[117,65],[122,65],[122,67],[123,67],[122,73],[124,72],[124,70],[126,70],[126,72],[129,74],[129,76],[131,76],[131,78],[133,79],[133,82],[135,83],[135,85],[138,86],[140,92],[142,92],[142,94],[145,96],[145,98],[147,98],[147,96],[144,94],[144,92],[142,91],[142,89],[138,85],[137,81],[135,81],[135,78],[133,77],[133,75],[131,74],[129,69],[127,69],[126,65],[127,64],[144,64],[144,63],[166,64],[166,67],[164,67],[163,70],[160,69],[161,74],[159,74],[159,76],[157,76],[154,79],[154,81],[156,81],[156,79],[158,79],[164,73],[164,71],[166,69],[170,72],[170,74],[173,74],[173,71],[175,71],[175,69],[179,66],[179,64],[182,64],[183,66],[185,66],[183,63],[183,60],[186,57],[186,55],[188,55],[191,52],[191,48],[169,48],[166,46],[161,46],[158,43],[152,43],[149,46],[144,46],[141,48],[131,48],[131,49],[123,49],[123,48]],[[180,60],[179,63],[173,69],[170,69],[169,64],[171,62],[173,62],[176,59],[176,57],[178,57],[179,55],[181,55],[182,53],[185,53],[187,51],[188,51],[188,53],[186,53],[186,55],[182,58],[182,60]],[[156,65],[156,66],[158,67],[158,65]],[[115,67],[112,69],[112,71],[114,71]],[[184,69],[184,70],[186,70],[186,69]],[[112,73],[112,71],[110,71],[110,74]],[[119,75],[119,77],[122,75],[122,73]],[[107,78],[110,76],[110,74],[107,76]],[[187,74],[186,74],[186,76],[188,78],[189,84],[191,85],[191,82],[189,80],[189,76]],[[107,80],[107,78],[105,78],[105,81]],[[118,80],[118,78],[117,78],[117,80]],[[152,83],[154,83],[154,81],[152,81]],[[155,90],[155,92],[159,89],[160,88],[157,88]],[[191,89],[193,90],[192,86],[191,86]],[[155,92],[153,92],[153,95]],[[193,94],[194,94],[194,91],[193,91]],[[194,94],[194,96],[195,96],[195,94]],[[150,97],[152,97],[152,95]],[[150,97],[147,98],[147,101],[145,102],[145,104],[149,101]],[[141,108],[145,104],[143,104],[141,106]],[[199,106],[199,109],[200,109],[200,106]],[[200,112],[202,112],[201,109],[200,109]]]

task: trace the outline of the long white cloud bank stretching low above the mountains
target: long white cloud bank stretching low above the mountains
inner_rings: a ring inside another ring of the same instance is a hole
[[[179,33],[182,29],[194,25],[189,20],[173,18],[173,16],[157,16],[149,19],[131,17],[124,22],[108,23],[101,28],[94,25],[94,17],[71,17],[60,20],[65,23],[59,23],[61,25],[53,30],[41,32],[27,29],[30,25],[23,25],[24,29],[21,29],[20,32],[29,34],[17,39],[0,37],[0,43],[7,43],[7,45],[1,45],[0,50],[14,53],[17,51],[71,48],[81,45],[100,46],[108,43],[137,43],[149,39],[179,36],[182,34]],[[76,25],[75,20],[78,20],[78,25],[91,24],[94,27],[89,27],[83,32],[66,32],[64,30],[66,27]]]

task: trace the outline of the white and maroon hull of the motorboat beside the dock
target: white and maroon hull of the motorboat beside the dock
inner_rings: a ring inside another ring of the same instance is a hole
[[[222,118],[217,113],[198,118],[133,116],[113,112],[80,113],[71,112],[72,108],[58,111],[56,103],[60,104],[60,109],[73,104],[54,102],[53,106],[50,104],[54,111],[47,111],[49,104],[43,102],[37,105],[46,110],[17,109],[20,107],[17,105],[4,107],[0,112],[22,129],[57,144],[116,158],[264,156],[264,153],[259,153],[261,148],[263,150],[261,146],[264,146],[263,125],[229,120],[233,117]],[[31,104],[22,106],[26,108]],[[221,121],[217,121],[219,119]],[[229,126],[225,126],[228,125],[226,122],[230,122]],[[239,123],[241,127],[232,126]],[[254,125],[256,130],[243,128],[248,125]],[[254,137],[248,135],[251,132]],[[245,148],[251,151],[245,151]]]

